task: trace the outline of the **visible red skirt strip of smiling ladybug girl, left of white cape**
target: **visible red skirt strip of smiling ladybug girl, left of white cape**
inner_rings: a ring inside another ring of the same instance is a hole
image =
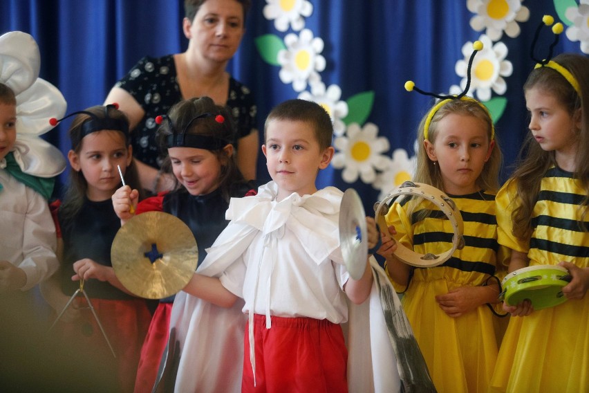
[[[160,360],[168,342],[172,304],[160,303],[153,313],[149,331],[141,348],[135,393],[151,392],[153,384],[156,383]]]

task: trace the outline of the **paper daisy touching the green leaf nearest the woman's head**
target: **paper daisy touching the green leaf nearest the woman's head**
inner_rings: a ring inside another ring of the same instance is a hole
[[[307,83],[321,81],[319,72],[325,69],[323,39],[313,37],[311,30],[304,29],[300,35],[290,33],[284,37],[286,49],[278,53],[279,72],[283,83],[292,83],[294,91],[303,91]]]

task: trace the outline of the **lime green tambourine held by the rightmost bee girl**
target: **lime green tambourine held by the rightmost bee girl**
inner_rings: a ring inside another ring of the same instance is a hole
[[[562,266],[527,266],[505,276],[499,300],[515,306],[528,299],[534,310],[558,306],[567,300],[562,289],[570,280],[571,275]]]

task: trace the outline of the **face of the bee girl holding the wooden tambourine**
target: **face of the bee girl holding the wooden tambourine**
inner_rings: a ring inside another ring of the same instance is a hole
[[[465,195],[479,191],[476,181],[494,147],[484,120],[449,113],[438,122],[436,141],[424,140],[424,147],[440,167],[445,192]]]

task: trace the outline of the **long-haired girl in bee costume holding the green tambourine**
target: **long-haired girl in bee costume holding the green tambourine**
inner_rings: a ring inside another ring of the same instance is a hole
[[[521,161],[497,194],[500,244],[512,249],[509,272],[527,266],[565,268],[566,302],[534,310],[530,300],[504,304],[512,314],[491,392],[589,391],[589,59],[552,59],[562,24],[545,60],[523,86],[530,133]]]

